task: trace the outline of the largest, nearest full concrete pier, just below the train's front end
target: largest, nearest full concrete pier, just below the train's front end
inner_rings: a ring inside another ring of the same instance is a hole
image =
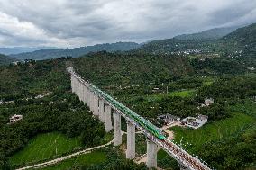
[[[156,168],[157,167],[157,152],[158,146],[152,142],[150,139],[147,139],[147,167]]]

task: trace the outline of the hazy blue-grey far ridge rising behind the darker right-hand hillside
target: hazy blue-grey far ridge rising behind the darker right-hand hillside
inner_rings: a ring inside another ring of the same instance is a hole
[[[234,31],[237,27],[225,27],[225,28],[215,28],[211,30],[201,31],[192,34],[182,34],[175,36],[174,39],[178,40],[217,40],[225,35]]]

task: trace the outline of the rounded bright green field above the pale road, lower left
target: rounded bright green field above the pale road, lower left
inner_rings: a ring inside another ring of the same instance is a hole
[[[10,162],[12,166],[38,162],[71,152],[81,146],[80,139],[69,139],[58,132],[40,134],[30,140],[25,148],[15,153]]]

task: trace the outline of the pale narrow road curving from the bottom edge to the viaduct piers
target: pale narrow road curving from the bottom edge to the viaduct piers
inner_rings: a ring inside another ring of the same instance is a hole
[[[57,164],[57,163],[59,163],[59,162],[61,162],[63,160],[69,159],[71,157],[76,157],[78,155],[90,153],[92,150],[95,150],[96,148],[104,148],[105,146],[108,146],[108,145],[112,144],[113,141],[114,140],[111,140],[110,142],[108,142],[108,143],[106,143],[104,145],[101,145],[101,146],[97,146],[97,147],[93,147],[93,148],[87,148],[87,149],[75,152],[73,154],[70,154],[68,156],[59,157],[59,158],[52,159],[50,161],[43,162],[43,163],[40,163],[40,164],[35,164],[35,165],[32,165],[32,166],[25,166],[25,167],[19,168],[17,170],[30,169],[30,168],[38,168],[38,167],[50,166],[50,165],[53,165],[53,164]]]

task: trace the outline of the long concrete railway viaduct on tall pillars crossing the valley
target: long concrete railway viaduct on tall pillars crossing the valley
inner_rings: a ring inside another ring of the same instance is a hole
[[[129,116],[127,112],[133,112],[129,108],[125,107],[122,103],[116,101],[110,95],[105,94],[98,89],[95,85],[92,85],[79,76],[73,69],[68,67],[71,78],[72,92],[77,94],[79,100],[86,103],[87,107],[98,119],[105,123],[105,131],[109,132],[114,128],[114,146],[119,146],[122,143],[121,133],[121,117],[127,121],[127,150],[126,158],[133,159],[135,157],[135,129],[142,130],[142,133],[147,139],[147,162],[148,168],[157,167],[157,151],[158,148],[163,148],[169,156],[178,161],[180,169],[189,170],[210,170],[203,161],[196,157],[189,155],[184,149],[178,147],[173,141],[169,139],[159,139],[150,130],[147,130],[133,117]],[[122,109],[120,109],[122,108]],[[114,112],[114,127],[112,125],[111,117]],[[135,112],[133,112],[136,114]],[[136,114],[139,116],[138,114]],[[140,119],[149,123],[144,118],[139,116]],[[154,126],[155,127],[155,126]],[[156,128],[156,127],[155,127]]]

